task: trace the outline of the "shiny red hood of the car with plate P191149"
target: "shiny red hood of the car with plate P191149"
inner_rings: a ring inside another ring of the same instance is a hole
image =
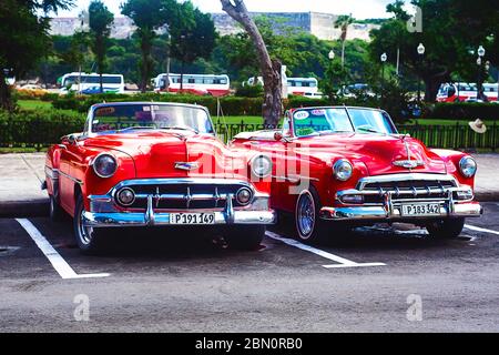
[[[210,134],[154,131],[89,138],[86,146],[116,150],[130,155],[138,179],[231,179],[232,161],[222,142]]]

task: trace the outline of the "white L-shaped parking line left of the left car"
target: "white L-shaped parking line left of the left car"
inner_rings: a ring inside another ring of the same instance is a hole
[[[16,219],[18,223],[28,232],[37,246],[47,256],[53,268],[61,275],[62,278],[93,278],[108,277],[110,274],[83,274],[79,275],[65,262],[65,260],[53,248],[49,241],[40,233],[39,230],[26,219]]]

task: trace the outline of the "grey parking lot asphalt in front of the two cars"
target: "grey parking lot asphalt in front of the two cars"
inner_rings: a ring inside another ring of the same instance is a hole
[[[100,256],[70,219],[0,219],[0,332],[498,332],[499,204],[485,206],[452,241],[380,225],[308,247],[284,227],[237,252],[130,230]]]

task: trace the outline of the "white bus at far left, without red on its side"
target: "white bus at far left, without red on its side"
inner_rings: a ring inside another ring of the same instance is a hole
[[[81,81],[80,81],[81,80]],[[102,74],[104,93],[124,93],[124,78],[121,74]],[[61,79],[61,94],[75,91],[84,94],[101,92],[101,81],[98,73],[68,73]]]

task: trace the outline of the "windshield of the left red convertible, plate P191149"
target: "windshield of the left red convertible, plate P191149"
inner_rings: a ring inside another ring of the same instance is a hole
[[[182,105],[105,105],[94,110],[91,122],[93,133],[167,129],[214,133],[212,121],[205,110]]]

